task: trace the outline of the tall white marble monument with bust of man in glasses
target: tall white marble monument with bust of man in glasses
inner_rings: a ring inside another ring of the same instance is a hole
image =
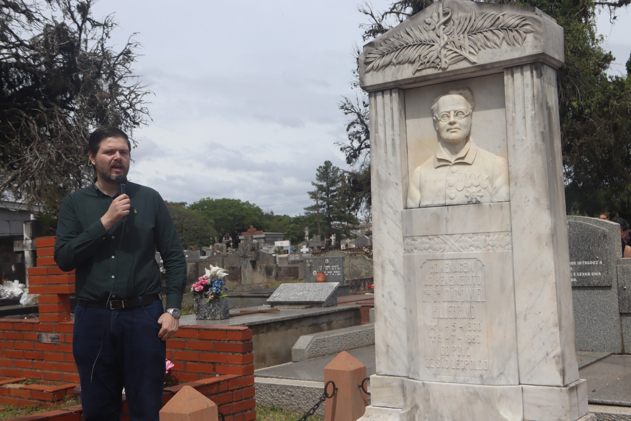
[[[596,419],[574,344],[562,62],[539,9],[462,0],[364,46],[377,374],[363,420]]]

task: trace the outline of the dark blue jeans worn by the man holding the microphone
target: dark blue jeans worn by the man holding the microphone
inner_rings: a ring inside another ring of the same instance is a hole
[[[167,353],[158,338],[162,313],[159,300],[120,310],[76,306],[73,355],[87,421],[119,420],[122,388],[131,420],[158,421]]]

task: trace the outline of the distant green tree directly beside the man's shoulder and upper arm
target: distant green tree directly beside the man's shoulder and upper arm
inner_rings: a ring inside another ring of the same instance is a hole
[[[216,241],[215,228],[200,211],[187,208],[184,202],[165,201],[165,203],[185,249],[190,246],[210,246]]]

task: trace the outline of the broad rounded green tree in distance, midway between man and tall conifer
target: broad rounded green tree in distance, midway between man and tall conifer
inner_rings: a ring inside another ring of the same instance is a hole
[[[201,212],[220,238],[230,234],[234,247],[239,243],[239,235],[250,225],[261,228],[261,208],[248,201],[206,198],[196,201],[189,208]]]

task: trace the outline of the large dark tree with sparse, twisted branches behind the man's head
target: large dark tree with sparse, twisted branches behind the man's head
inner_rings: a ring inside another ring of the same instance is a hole
[[[132,69],[139,43],[115,50],[117,23],[95,19],[93,3],[0,2],[0,197],[56,213],[66,194],[91,181],[91,131],[131,134],[150,120],[149,92]]]

